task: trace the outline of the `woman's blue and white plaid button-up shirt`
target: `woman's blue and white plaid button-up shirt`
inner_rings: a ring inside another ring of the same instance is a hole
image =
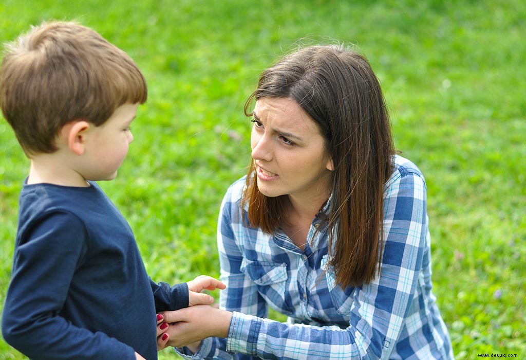
[[[301,251],[284,233],[247,227],[239,206],[245,179],[232,184],[221,206],[218,247],[227,285],[220,308],[234,315],[228,338],[205,339],[194,357],[452,359],[431,292],[426,184],[410,161],[396,156],[395,162],[384,191],[381,270],[356,287],[336,284],[320,219]],[[288,322],[267,319],[268,306]]]

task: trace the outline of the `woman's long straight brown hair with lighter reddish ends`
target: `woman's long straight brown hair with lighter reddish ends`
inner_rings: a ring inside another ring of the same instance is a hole
[[[389,116],[367,59],[342,46],[311,46],[264,71],[245,104],[262,97],[294,99],[318,125],[334,164],[326,217],[329,265],[341,286],[375,278],[382,254],[383,187],[392,173]],[[259,192],[251,162],[241,206],[248,222],[266,233],[281,227],[287,196]]]

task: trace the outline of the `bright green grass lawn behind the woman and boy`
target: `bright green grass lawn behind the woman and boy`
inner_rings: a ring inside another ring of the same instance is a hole
[[[249,161],[242,106],[259,72],[298,44],[359,46],[382,82],[397,148],[427,179],[434,292],[457,358],[526,357],[521,0],[3,0],[0,16],[0,41],[43,19],[78,19],[143,69],[149,97],[135,141],[102,186],[133,227],[149,274],[167,282],[218,275],[216,218]],[[3,120],[0,156],[3,304],[28,170]],[[0,339],[0,359],[22,358]]]

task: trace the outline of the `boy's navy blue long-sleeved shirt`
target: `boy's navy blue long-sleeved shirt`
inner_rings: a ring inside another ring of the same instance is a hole
[[[95,182],[24,185],[6,341],[32,359],[157,359],[156,311],[188,286],[148,277],[125,218]]]

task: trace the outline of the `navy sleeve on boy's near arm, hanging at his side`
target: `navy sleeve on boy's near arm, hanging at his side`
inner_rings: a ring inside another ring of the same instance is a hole
[[[30,358],[135,359],[130,346],[102,332],[76,327],[59,315],[75,270],[86,255],[86,238],[76,216],[55,212],[18,239],[2,334]]]

